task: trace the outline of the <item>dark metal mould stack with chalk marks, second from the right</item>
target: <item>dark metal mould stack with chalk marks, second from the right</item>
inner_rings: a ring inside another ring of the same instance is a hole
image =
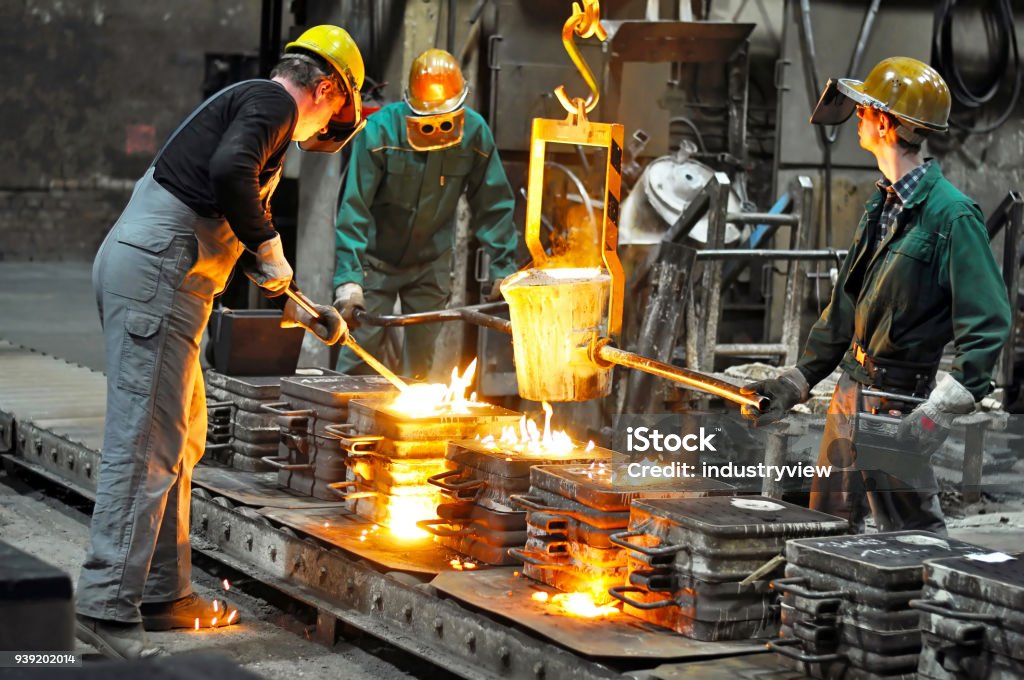
[[[916,677],[927,559],[984,552],[929,532],[791,541],[785,547],[781,637],[770,643],[814,678]]]

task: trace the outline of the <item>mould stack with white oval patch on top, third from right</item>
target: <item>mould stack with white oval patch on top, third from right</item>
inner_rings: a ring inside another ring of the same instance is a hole
[[[697,640],[766,638],[778,632],[769,576],[788,539],[835,536],[847,522],[761,496],[636,501],[629,586],[611,589],[624,610]]]

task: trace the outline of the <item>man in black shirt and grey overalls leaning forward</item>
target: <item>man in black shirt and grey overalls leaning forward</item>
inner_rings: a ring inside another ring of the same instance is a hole
[[[200,340],[240,258],[266,291],[291,284],[269,203],[285,153],[292,140],[337,151],[358,130],[362,74],[344,30],[303,33],[268,80],[224,88],[171,133],[96,255],[106,420],[76,608],[79,637],[108,656],[162,653],[143,628],[240,620],[191,585],[189,486],[206,440]],[[289,303],[283,325],[342,340],[341,316],[316,308],[313,320]]]

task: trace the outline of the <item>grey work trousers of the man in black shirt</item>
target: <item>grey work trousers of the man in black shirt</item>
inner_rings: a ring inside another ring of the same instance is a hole
[[[191,593],[191,471],[206,442],[200,340],[243,246],[151,169],[96,255],[106,420],[79,613],[134,623]]]

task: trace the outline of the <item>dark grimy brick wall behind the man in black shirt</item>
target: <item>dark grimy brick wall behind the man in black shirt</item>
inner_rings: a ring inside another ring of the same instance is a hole
[[[0,2],[0,260],[88,260],[260,0]]]

